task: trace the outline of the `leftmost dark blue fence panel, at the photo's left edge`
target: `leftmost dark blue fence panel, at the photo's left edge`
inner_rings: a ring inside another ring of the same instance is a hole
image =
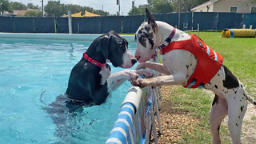
[[[14,32],[13,17],[0,17],[0,32]]]

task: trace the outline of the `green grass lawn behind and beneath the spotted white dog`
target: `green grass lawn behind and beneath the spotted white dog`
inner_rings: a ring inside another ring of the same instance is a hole
[[[198,34],[198,33],[195,33]],[[222,54],[224,65],[246,86],[256,100],[256,38],[221,38],[220,32],[200,32],[199,37]],[[202,89],[174,89],[166,99],[180,103],[175,109],[186,110],[200,119],[192,134],[183,133],[178,143],[211,143],[209,113],[213,94]],[[231,143],[227,126],[221,126],[222,143]]]

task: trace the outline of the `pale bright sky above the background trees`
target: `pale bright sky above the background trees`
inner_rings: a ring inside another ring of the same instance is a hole
[[[41,6],[41,0],[10,0],[11,2],[22,2],[27,4],[29,2],[33,3],[34,5]],[[147,4],[147,0],[120,0],[121,3],[121,10],[120,13],[123,15],[127,15],[127,13],[131,9],[131,2],[135,1],[135,6]],[[44,0],[44,6],[46,6],[48,0]],[[90,6],[93,7],[95,10],[103,10],[108,11],[110,14],[117,14],[118,5],[117,0],[60,0],[61,3],[64,4],[76,4],[80,6]]]

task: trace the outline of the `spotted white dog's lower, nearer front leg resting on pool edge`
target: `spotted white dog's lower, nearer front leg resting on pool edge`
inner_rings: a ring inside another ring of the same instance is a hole
[[[138,78],[132,84],[134,86],[163,86],[163,85],[186,85],[186,74],[173,74],[173,75],[166,75],[166,76],[159,76],[155,78]]]

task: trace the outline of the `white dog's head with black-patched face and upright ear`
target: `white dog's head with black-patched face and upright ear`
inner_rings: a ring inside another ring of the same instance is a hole
[[[135,53],[135,58],[138,62],[146,62],[154,56],[154,50],[158,46],[156,34],[158,33],[158,24],[154,21],[154,17],[150,11],[146,9],[148,22],[143,22],[135,34],[135,42],[138,47]]]

